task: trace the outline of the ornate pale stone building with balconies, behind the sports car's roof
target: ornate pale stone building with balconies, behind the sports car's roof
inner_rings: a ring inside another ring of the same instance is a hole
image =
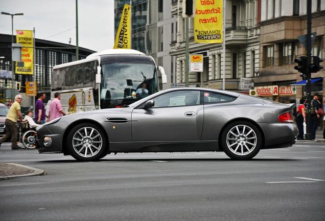
[[[255,70],[259,69],[259,1],[227,0],[225,20],[225,89],[248,93]],[[182,18],[182,1],[173,1],[172,15],[174,36],[171,55],[175,57],[175,83],[185,82],[185,19]],[[203,54],[203,72],[189,73],[189,86],[222,89],[223,47],[222,44],[194,42],[194,19],[189,23],[190,54]],[[246,82],[246,84],[245,84]]]

